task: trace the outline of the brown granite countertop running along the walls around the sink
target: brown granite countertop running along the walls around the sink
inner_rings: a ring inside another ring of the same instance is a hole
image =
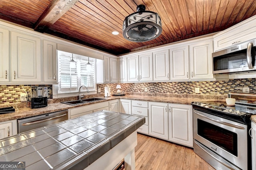
[[[205,101],[215,101],[215,100],[223,100],[223,99],[211,99],[211,98],[196,98],[197,96],[186,96],[186,95],[172,95],[172,97],[169,96],[144,96],[144,95],[125,95],[125,96],[111,96],[106,98],[106,100],[99,100],[96,102],[90,102],[85,104],[79,104],[79,105],[68,105],[63,103],[52,103],[48,104],[47,107],[44,108],[20,108],[18,111],[14,113],[8,113],[8,114],[0,114],[0,122],[5,122],[9,120],[15,120],[15,119],[22,119],[22,118],[28,118],[32,116],[38,116],[41,114],[47,114],[52,112],[58,112],[61,110],[67,110],[70,108],[76,108],[80,106],[86,106],[90,104],[96,104],[100,102],[106,102],[109,100],[114,99],[128,99],[128,100],[144,100],[148,102],[166,102],[166,103],[173,103],[173,104],[191,104],[191,102],[197,101],[197,102],[205,102]],[[103,98],[103,97],[102,97]],[[225,101],[225,100],[223,100]]]

